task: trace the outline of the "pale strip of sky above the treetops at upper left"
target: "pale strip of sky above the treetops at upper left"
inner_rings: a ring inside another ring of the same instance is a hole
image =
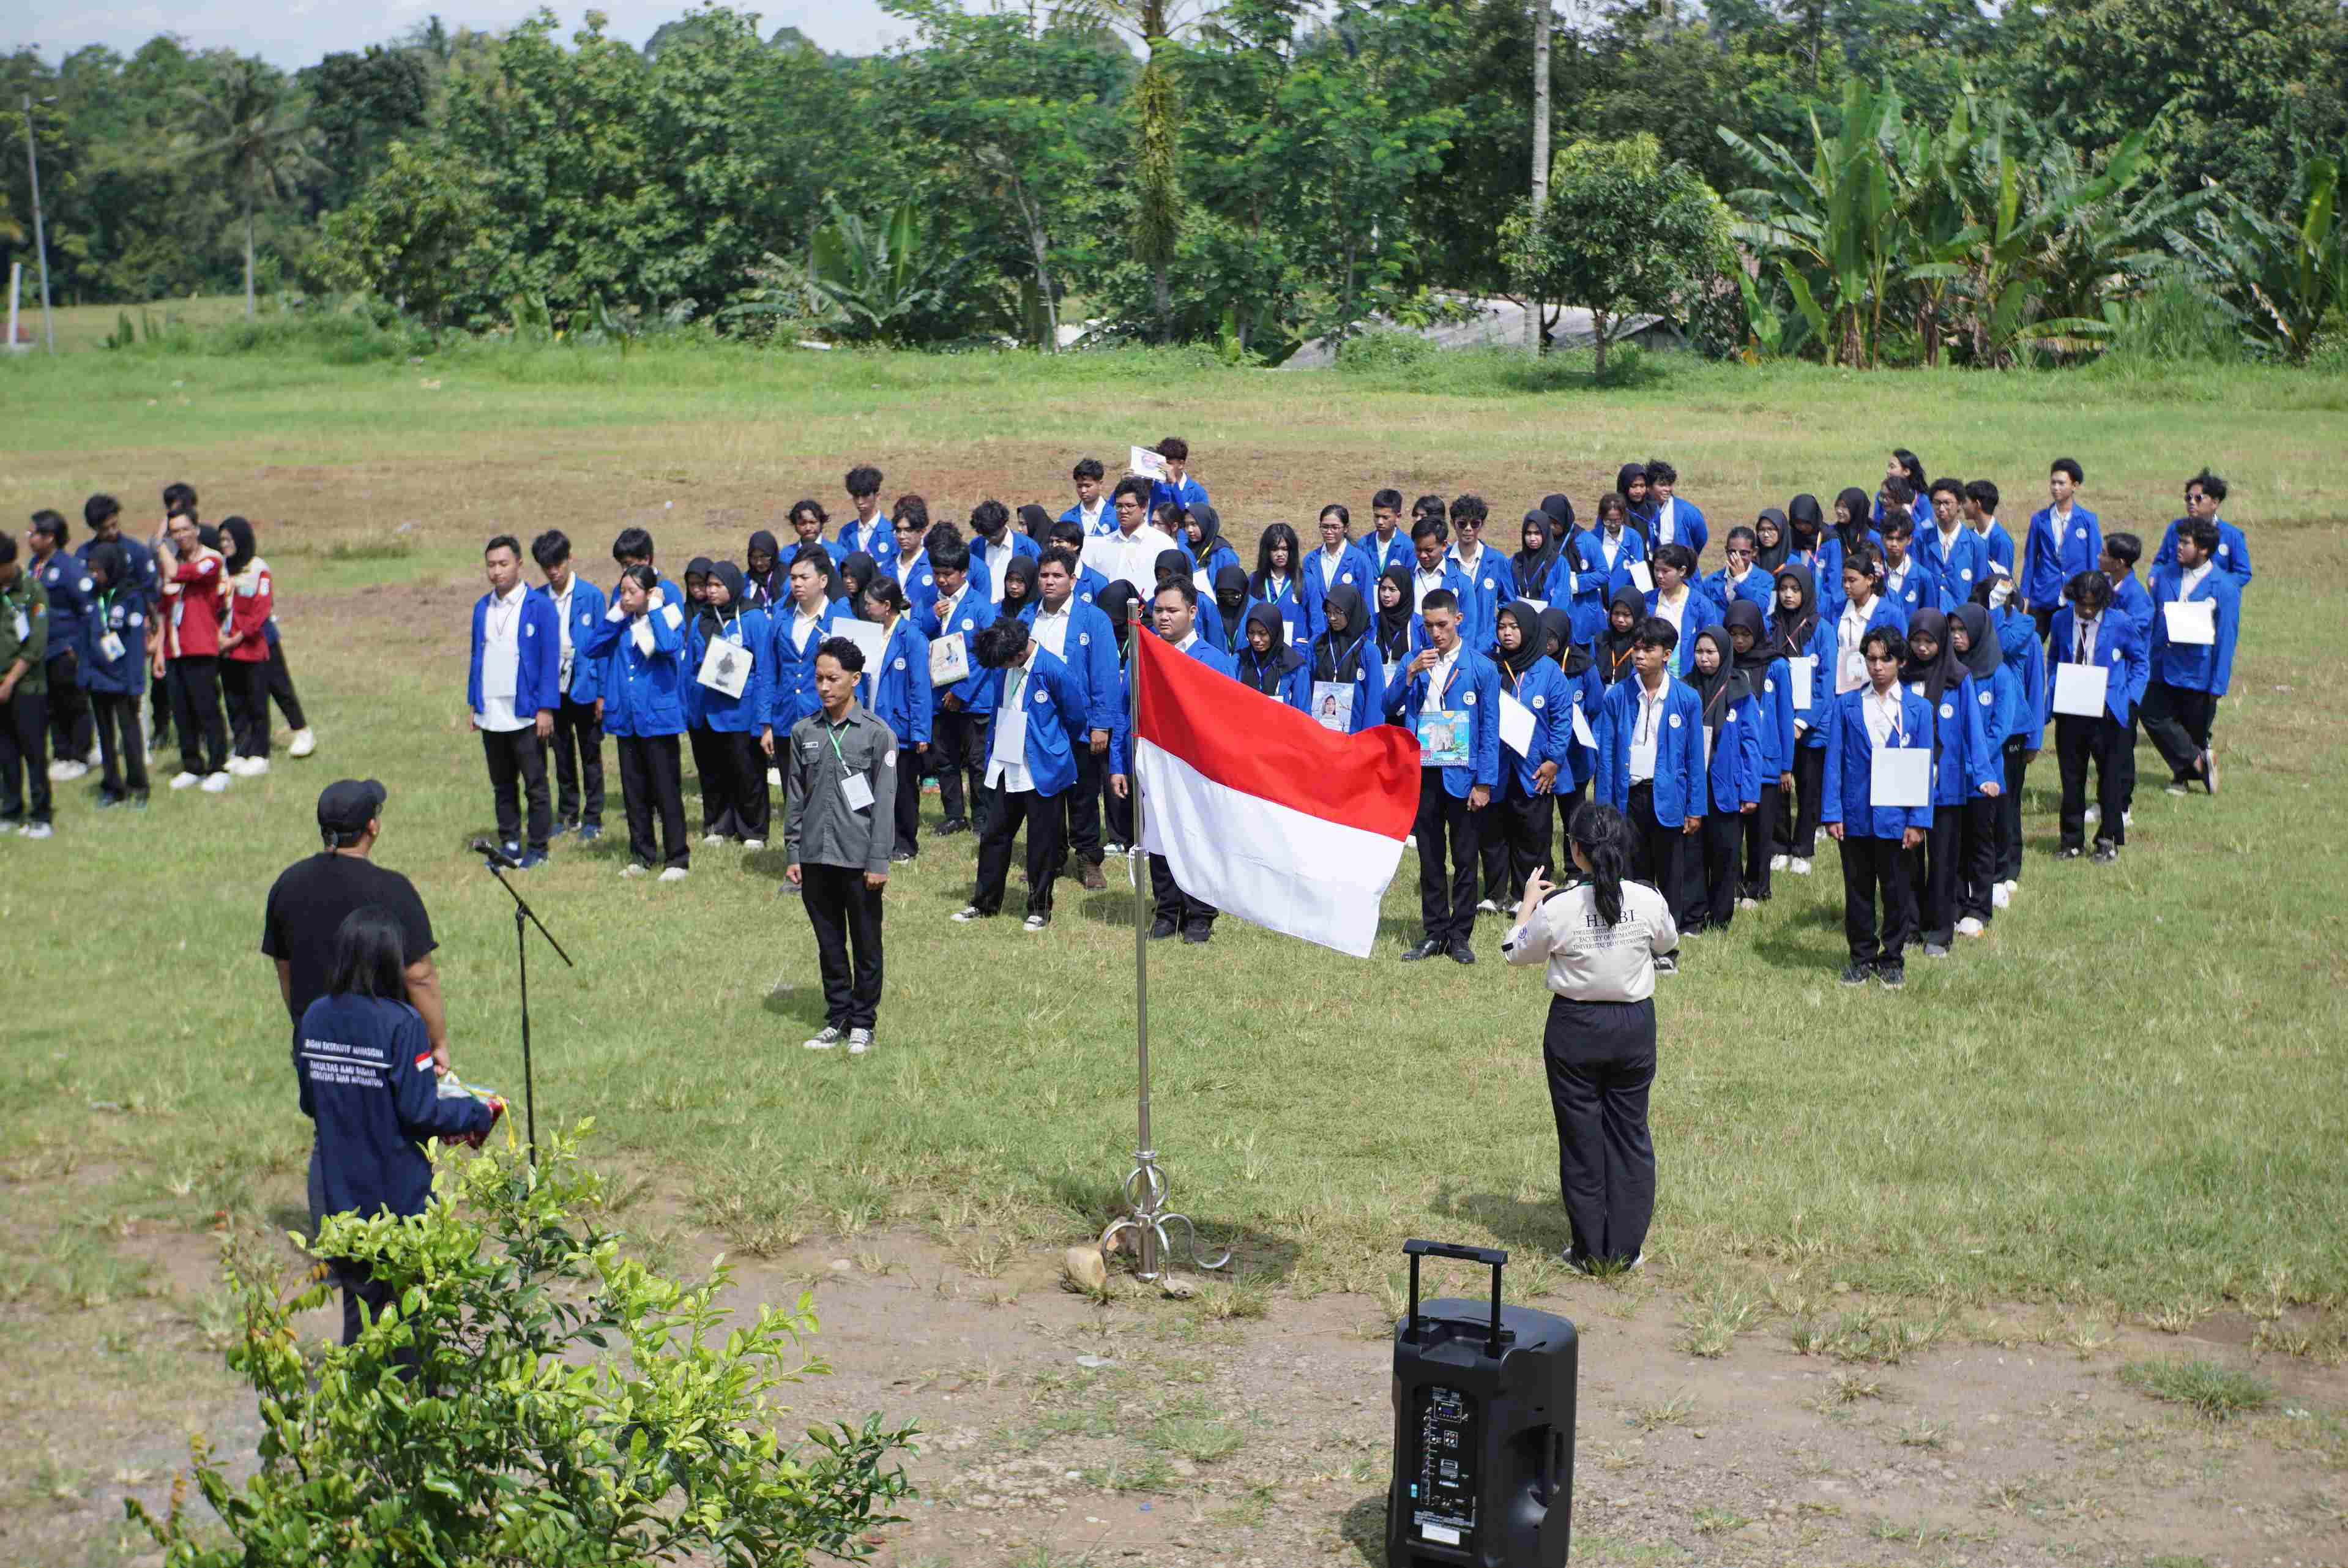
[[[817,47],[841,54],[873,54],[911,26],[876,0],[768,0],[744,5],[758,12],[758,33],[796,26]],[[336,5],[333,0],[131,0],[115,5],[59,5],[56,0],[0,0],[0,49],[31,45],[52,66],[87,45],[131,54],[157,33],[178,33],[195,49],[237,49],[275,66],[312,66],[336,49],[387,42],[434,12],[453,33],[507,28],[533,14],[535,0],[380,0]],[[603,0],[596,7],[554,5],[564,35],[580,28],[587,9],[610,16],[610,33],[641,45],[664,21],[676,21],[686,0]]]

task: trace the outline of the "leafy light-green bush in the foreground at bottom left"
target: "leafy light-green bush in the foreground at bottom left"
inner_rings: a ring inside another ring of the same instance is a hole
[[[174,1493],[141,1521],[171,1568],[256,1563],[742,1563],[869,1556],[909,1488],[913,1437],[880,1418],[775,1437],[770,1394],[826,1366],[801,1352],[810,1298],[726,1329],[728,1282],[683,1284],[599,1228],[578,1136],[535,1167],[517,1150],[444,1155],[416,1218],[329,1216],[308,1251],[390,1286],[352,1345],[305,1350],[275,1251],[230,1246],[239,1333],[230,1366],[261,1394],[261,1469],[232,1483],[193,1439],[195,1486],[232,1545]],[[613,1357],[613,1350],[625,1354]]]

